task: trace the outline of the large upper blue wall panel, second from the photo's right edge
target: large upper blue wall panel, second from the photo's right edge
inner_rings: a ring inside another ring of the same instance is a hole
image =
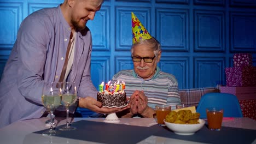
[[[195,51],[224,51],[223,11],[195,10]]]

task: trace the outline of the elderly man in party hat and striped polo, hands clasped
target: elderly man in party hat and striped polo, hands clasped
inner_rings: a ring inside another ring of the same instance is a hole
[[[125,81],[125,92],[130,97],[129,108],[119,112],[122,117],[153,117],[155,105],[181,104],[176,78],[157,67],[161,47],[132,13],[133,45],[131,57],[133,70],[121,70],[113,80]]]

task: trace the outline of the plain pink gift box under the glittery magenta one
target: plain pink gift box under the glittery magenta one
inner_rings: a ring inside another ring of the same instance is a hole
[[[256,100],[256,87],[228,87],[220,86],[220,93],[231,93],[236,95],[238,100]]]

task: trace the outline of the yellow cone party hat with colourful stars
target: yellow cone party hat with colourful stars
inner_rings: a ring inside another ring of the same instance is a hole
[[[132,44],[135,44],[141,39],[150,39],[151,35],[142,25],[141,21],[132,13]]]

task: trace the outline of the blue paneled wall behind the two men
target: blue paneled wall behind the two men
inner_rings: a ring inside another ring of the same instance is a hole
[[[62,0],[0,0],[0,76],[19,25],[33,11]],[[92,32],[92,82],[97,87],[132,69],[131,11],[162,45],[159,67],[179,88],[225,85],[234,53],[253,54],[256,66],[256,2],[251,0],[108,0],[88,22]]]

